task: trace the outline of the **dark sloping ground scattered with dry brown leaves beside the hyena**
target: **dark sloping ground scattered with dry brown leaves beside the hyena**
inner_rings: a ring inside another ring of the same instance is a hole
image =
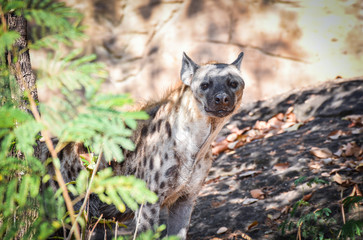
[[[329,208],[336,223],[321,231],[334,237],[328,232],[342,224],[341,200],[363,190],[363,80],[337,79],[244,105],[213,151],[189,239],[297,239],[296,227],[281,235],[279,226],[302,198],[309,205],[296,216]],[[296,186],[301,177],[305,184]],[[309,187],[315,177],[326,183]]]

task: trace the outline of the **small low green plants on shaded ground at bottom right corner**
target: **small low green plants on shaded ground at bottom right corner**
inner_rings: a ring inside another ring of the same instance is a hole
[[[303,184],[312,187],[315,184],[328,184],[327,181],[315,177],[306,181],[306,177],[298,178],[295,185]],[[343,200],[344,207],[349,210],[354,205],[362,202],[361,196],[347,197]],[[337,225],[336,219],[331,216],[332,211],[329,208],[316,209],[311,211],[311,204],[304,199],[294,203],[289,217],[280,225],[282,235],[287,232],[297,231],[297,239],[356,239],[356,236],[362,235],[363,221],[349,220],[342,226]],[[300,213],[300,216],[299,216]],[[293,237],[295,238],[295,237]]]

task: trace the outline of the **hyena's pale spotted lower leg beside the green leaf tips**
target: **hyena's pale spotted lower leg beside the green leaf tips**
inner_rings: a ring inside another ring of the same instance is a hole
[[[160,204],[144,204],[136,211],[136,230],[137,233],[154,229],[159,225]]]

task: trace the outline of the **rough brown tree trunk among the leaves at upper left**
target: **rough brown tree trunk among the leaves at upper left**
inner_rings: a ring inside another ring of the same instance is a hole
[[[22,97],[25,91],[29,91],[33,99],[38,101],[36,78],[32,71],[28,49],[27,21],[23,16],[17,16],[15,13],[8,13],[6,18],[9,30],[20,34],[20,37],[13,45],[15,55],[11,52],[8,53],[8,63],[20,89],[20,108],[25,110],[28,106],[28,103]]]

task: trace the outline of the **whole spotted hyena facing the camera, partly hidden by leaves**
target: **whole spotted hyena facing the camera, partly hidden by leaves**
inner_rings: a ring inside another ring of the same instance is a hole
[[[186,238],[195,200],[212,164],[211,143],[241,104],[242,58],[240,53],[231,64],[200,66],[184,54],[183,84],[144,108],[150,118],[138,124],[133,136],[135,151],[126,153],[124,162],[112,163],[115,174],[134,174],[159,197],[156,204],[146,204],[136,212],[138,232],[159,224],[160,210],[166,208],[168,235]],[[74,180],[82,168],[78,156],[82,151],[77,144],[63,150],[61,170],[66,181]],[[108,218],[123,217],[114,206],[93,196],[90,214],[101,213]]]

